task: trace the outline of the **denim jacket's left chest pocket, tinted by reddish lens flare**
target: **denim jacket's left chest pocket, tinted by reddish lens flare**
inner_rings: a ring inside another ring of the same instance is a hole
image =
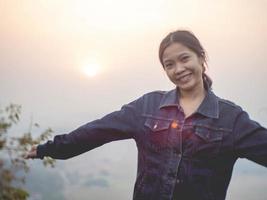
[[[168,146],[169,127],[171,122],[163,119],[147,118],[146,139],[153,149],[162,149]]]

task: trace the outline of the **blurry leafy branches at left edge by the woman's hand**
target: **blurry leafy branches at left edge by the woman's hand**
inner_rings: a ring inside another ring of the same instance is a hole
[[[0,199],[25,200],[29,193],[22,188],[25,175],[30,167],[24,159],[26,153],[33,145],[37,145],[51,135],[48,128],[39,137],[32,137],[32,127],[39,128],[37,123],[30,124],[29,131],[11,136],[10,129],[20,121],[21,106],[10,104],[4,109],[0,108]],[[45,166],[54,167],[55,160],[44,158]]]

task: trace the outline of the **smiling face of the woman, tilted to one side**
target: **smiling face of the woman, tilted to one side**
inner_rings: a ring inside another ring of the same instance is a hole
[[[204,88],[203,59],[181,43],[172,43],[162,55],[163,66],[169,79],[182,91]]]

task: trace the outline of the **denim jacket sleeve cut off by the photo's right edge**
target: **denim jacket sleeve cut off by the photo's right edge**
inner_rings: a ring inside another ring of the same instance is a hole
[[[267,167],[267,130],[243,110],[235,123],[234,149],[238,157]]]

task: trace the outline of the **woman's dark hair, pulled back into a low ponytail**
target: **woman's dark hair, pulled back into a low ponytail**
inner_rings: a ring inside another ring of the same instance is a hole
[[[204,63],[203,63],[204,69],[208,66],[207,65],[207,55],[206,55],[205,49],[202,47],[202,45],[200,44],[197,37],[190,31],[177,30],[177,31],[169,33],[160,43],[159,60],[160,60],[163,67],[164,67],[163,61],[162,61],[163,52],[165,51],[165,49],[169,45],[171,45],[172,43],[175,43],[175,42],[183,44],[187,48],[194,51],[198,57],[202,58],[204,60]],[[203,77],[205,89],[211,89],[212,80],[205,73],[205,71],[203,72],[202,77]]]

